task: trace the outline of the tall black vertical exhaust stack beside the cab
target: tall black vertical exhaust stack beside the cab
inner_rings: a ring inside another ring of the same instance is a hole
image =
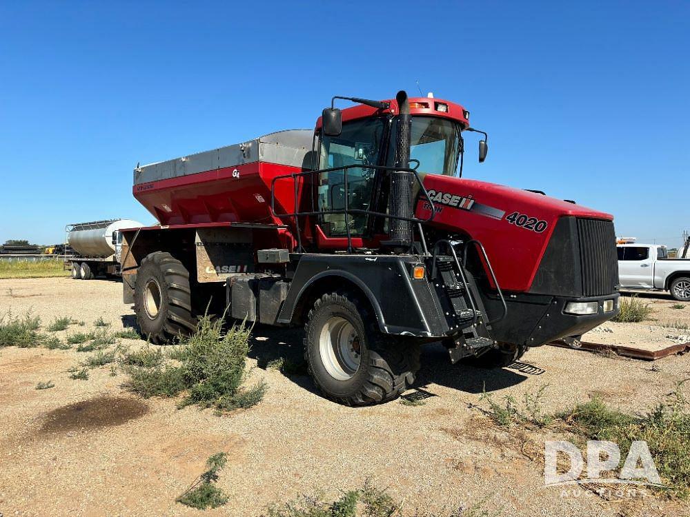
[[[410,134],[412,130],[412,118],[410,116],[410,104],[407,93],[404,90],[397,92],[397,126],[395,139],[395,166],[400,168],[410,167]],[[395,170],[391,172],[391,200],[390,214],[397,217],[412,217],[412,182],[411,172]],[[408,252],[412,245],[412,223],[402,219],[391,219],[390,241],[386,245],[393,247],[395,252]]]

